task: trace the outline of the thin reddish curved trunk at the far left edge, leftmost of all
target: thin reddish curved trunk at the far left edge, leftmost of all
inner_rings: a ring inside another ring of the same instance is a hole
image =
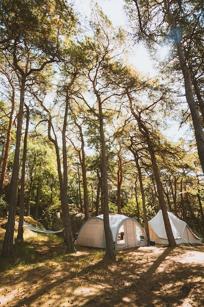
[[[0,174],[0,200],[3,193],[3,183],[6,175],[6,167],[7,167],[7,161],[8,161],[8,153],[9,153],[9,147],[10,147],[10,141],[11,141],[11,128],[12,128],[12,121],[13,121],[13,113],[14,113],[14,105],[15,105],[15,88],[11,83],[11,80],[9,77],[9,82],[12,86],[12,96],[11,96],[11,113],[9,117],[9,124],[8,124],[8,130],[7,130],[7,136],[6,136],[6,145],[5,145],[5,152],[3,156],[3,163],[1,168],[1,174]]]

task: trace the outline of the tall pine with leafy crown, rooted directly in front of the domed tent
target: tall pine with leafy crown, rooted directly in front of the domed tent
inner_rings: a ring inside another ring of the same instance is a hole
[[[106,67],[112,61],[112,57],[119,52],[120,44],[123,41],[122,30],[113,31],[113,27],[106,16],[99,9],[95,9],[95,20],[91,22],[93,29],[93,39],[86,40],[86,55],[89,59],[87,64],[87,79],[91,85],[92,96],[95,103],[88,105],[91,113],[98,120],[100,143],[101,143],[101,177],[102,177],[102,197],[104,231],[106,237],[106,255],[113,259],[114,246],[113,237],[109,224],[109,191],[108,191],[108,172],[107,172],[107,149],[105,135],[105,121],[109,117],[105,114],[106,103],[109,103],[114,95],[109,92],[108,86],[104,86],[103,80],[106,74]],[[96,107],[96,106],[97,107]],[[110,120],[110,119],[109,119]]]

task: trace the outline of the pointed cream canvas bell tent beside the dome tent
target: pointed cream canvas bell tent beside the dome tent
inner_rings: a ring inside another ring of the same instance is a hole
[[[201,239],[193,233],[189,226],[172,212],[168,212],[169,221],[171,224],[172,232],[177,244],[194,244],[200,245]],[[163,221],[162,211],[156,214],[152,220],[148,222],[150,240],[155,241],[157,244],[168,245],[168,239]]]

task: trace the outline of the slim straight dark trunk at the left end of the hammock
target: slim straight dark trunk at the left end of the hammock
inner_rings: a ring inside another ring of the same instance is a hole
[[[21,171],[21,189],[20,189],[20,212],[19,212],[19,227],[17,239],[23,240],[23,217],[24,217],[24,189],[25,189],[25,163],[26,163],[26,155],[27,155],[27,135],[28,135],[28,127],[29,127],[29,118],[30,112],[28,106],[26,107],[26,125],[25,125],[25,135],[23,142],[23,161],[22,161],[22,171]]]

